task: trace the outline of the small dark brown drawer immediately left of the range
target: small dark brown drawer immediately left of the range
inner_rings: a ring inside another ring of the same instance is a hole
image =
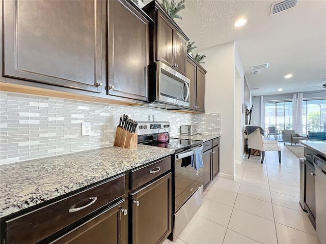
[[[132,170],[130,173],[130,190],[134,190],[155,177],[171,170],[171,156],[139,169]]]

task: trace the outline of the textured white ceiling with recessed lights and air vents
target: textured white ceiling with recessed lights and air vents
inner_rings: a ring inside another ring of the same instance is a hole
[[[307,92],[308,86],[326,92],[326,1],[301,0],[270,16],[275,2],[185,0],[182,20],[175,21],[195,41],[194,52],[235,41],[252,96]],[[248,22],[234,27],[239,17]],[[269,67],[252,75],[251,66],[262,63]],[[293,77],[285,79],[289,73]]]

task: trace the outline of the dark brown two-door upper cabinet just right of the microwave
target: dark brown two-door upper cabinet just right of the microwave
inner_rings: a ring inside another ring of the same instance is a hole
[[[189,109],[205,112],[206,71],[189,55],[186,63],[186,77],[190,79]]]

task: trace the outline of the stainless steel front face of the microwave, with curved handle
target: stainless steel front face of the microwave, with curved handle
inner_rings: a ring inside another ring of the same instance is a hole
[[[161,62],[156,65],[156,100],[188,107],[190,80]]]

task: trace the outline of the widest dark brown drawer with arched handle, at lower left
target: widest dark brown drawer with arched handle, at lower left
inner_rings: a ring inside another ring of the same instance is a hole
[[[6,221],[6,243],[41,241],[124,194],[125,175],[120,175],[83,192]]]

